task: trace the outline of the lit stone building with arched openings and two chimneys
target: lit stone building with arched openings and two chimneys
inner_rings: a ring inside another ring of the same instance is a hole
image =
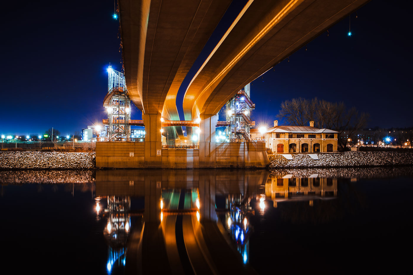
[[[252,138],[263,138],[266,148],[278,154],[337,152],[338,133],[315,128],[314,121],[310,121],[310,126],[278,126],[277,120],[274,127],[264,133],[260,133],[259,129],[251,129],[250,132]]]

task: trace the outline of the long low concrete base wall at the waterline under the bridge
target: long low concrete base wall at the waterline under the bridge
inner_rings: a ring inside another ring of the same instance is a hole
[[[270,164],[264,142],[214,142],[213,148],[209,156],[201,156],[199,149],[161,149],[161,168],[265,168]],[[152,168],[145,153],[144,142],[97,142],[96,167]]]

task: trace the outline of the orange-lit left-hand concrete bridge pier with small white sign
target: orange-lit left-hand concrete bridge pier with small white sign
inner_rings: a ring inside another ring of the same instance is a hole
[[[142,119],[145,124],[145,168],[161,168],[161,114],[142,114]]]

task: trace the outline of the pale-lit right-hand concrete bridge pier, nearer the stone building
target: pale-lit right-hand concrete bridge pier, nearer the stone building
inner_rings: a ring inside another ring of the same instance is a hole
[[[216,167],[215,127],[218,121],[216,115],[200,115],[199,118],[199,168]]]

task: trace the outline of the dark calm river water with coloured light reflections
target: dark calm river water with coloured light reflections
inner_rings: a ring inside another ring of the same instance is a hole
[[[3,274],[410,273],[412,167],[0,171],[0,182]]]

